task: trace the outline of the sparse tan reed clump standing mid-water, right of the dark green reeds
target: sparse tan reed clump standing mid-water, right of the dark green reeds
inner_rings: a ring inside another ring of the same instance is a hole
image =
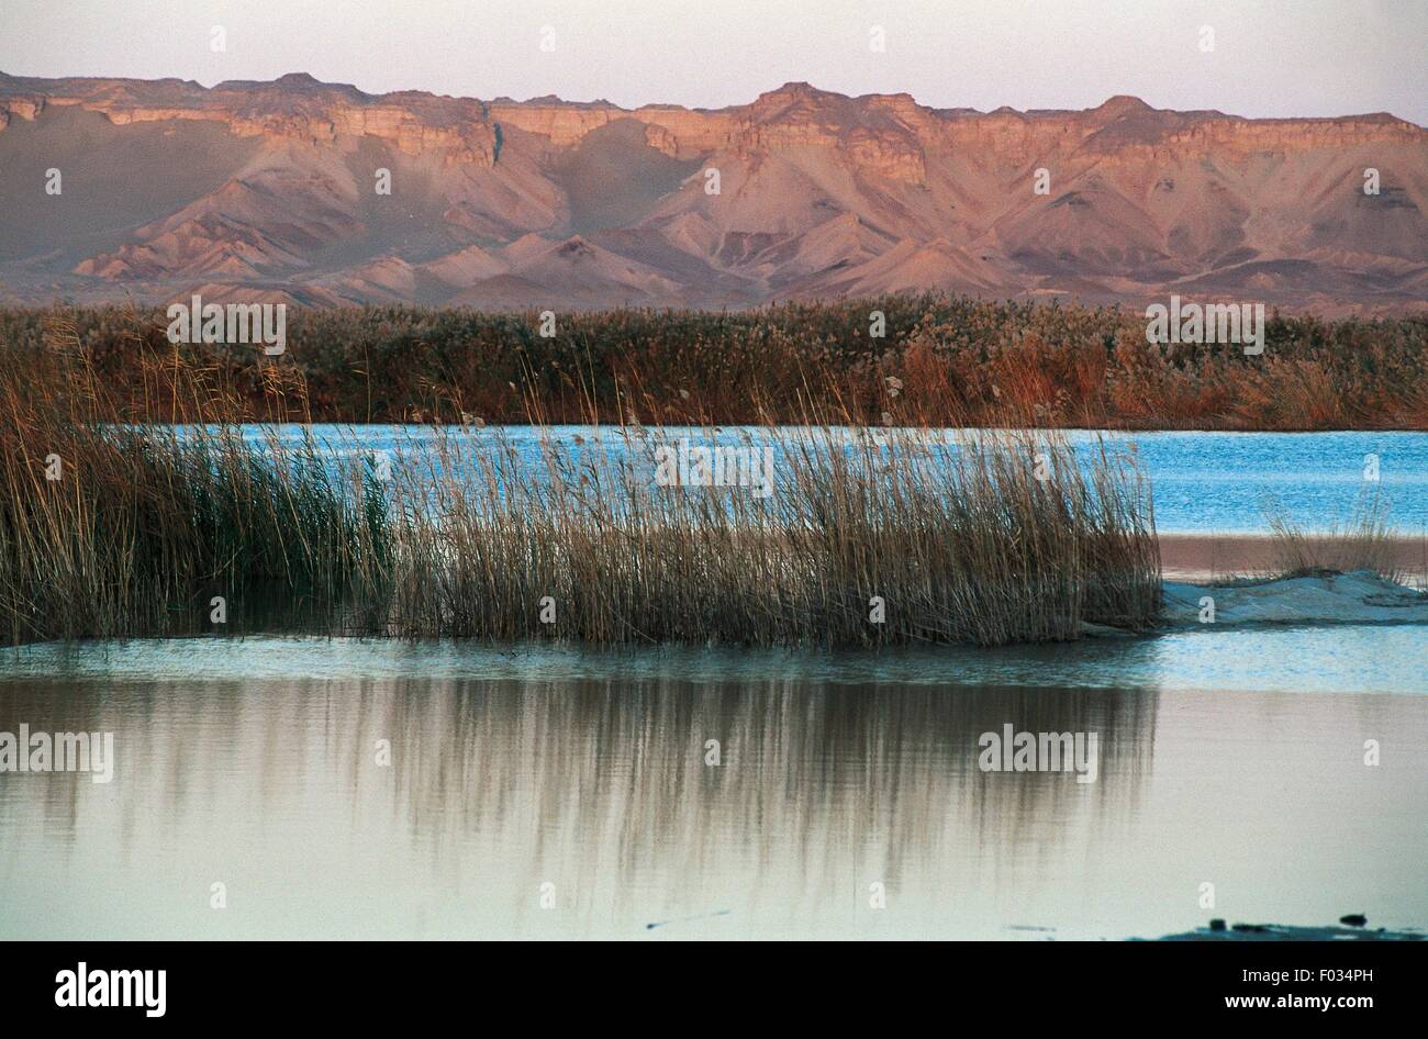
[[[841,420],[843,417],[837,417]],[[593,644],[1005,642],[1148,627],[1150,494],[1057,437],[818,421],[440,430],[394,467],[394,631]],[[661,485],[681,438],[763,457],[750,487]]]

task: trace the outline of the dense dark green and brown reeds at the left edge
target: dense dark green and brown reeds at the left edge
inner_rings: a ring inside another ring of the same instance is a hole
[[[208,372],[139,360],[163,368],[167,392],[130,408],[63,330],[40,351],[0,350],[3,638],[194,632],[214,597],[291,609],[381,579],[387,514],[370,475],[348,485],[310,435],[246,440]],[[164,421],[177,394],[197,425]]]

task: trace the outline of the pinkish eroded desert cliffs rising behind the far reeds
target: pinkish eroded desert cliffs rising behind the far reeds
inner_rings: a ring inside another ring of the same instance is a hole
[[[977,113],[805,83],[721,110],[627,110],[371,96],[306,74],[213,88],[0,76],[0,157],[29,147],[17,127],[64,111],[176,141],[203,123],[256,151],[139,223],[0,245],[11,297],[164,297],[197,277],[474,305],[1184,285],[1415,310],[1428,284],[1428,133],[1387,114],[1245,120],[1132,97]]]

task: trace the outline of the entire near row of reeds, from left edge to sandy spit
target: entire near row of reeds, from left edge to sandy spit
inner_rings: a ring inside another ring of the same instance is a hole
[[[270,624],[260,602],[301,602],[307,631],[593,645],[1000,645],[1141,629],[1160,608],[1134,458],[1078,464],[1055,434],[861,427],[805,377],[797,428],[765,421],[731,445],[767,460],[767,497],[667,485],[658,450],[718,431],[595,425],[584,372],[584,434],[555,428],[527,378],[537,450],[473,418],[378,457],[318,441],[281,363],[266,408],[300,425],[254,438],[223,368],[140,345],[143,392],[119,394],[70,331],[37,355],[0,351],[0,622],[16,644],[236,631],[208,619],[213,597],[256,618],[246,629]]]

